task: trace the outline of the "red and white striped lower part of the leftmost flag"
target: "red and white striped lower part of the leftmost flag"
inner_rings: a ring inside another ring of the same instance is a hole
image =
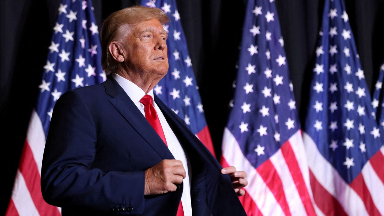
[[[61,208],[47,204],[41,194],[40,178],[44,147],[43,125],[33,110],[6,216],[61,215]]]

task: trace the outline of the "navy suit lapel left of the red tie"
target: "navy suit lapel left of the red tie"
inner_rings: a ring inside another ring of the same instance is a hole
[[[162,159],[174,159],[167,146],[157,135],[137,106],[133,103],[119,83],[109,75],[103,82],[106,94],[112,96],[109,102],[119,111],[128,123],[147,141]]]

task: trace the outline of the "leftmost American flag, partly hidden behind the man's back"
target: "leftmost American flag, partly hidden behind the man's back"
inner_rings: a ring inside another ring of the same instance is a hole
[[[106,79],[91,1],[63,0],[53,31],[7,216],[61,215],[60,208],[43,200],[40,187],[41,161],[53,106],[66,91]]]

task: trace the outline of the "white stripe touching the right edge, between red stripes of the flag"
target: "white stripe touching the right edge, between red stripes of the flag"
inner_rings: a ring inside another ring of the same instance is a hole
[[[381,154],[380,151],[378,151],[377,153]],[[381,167],[384,167],[384,163],[381,164]],[[374,206],[377,208],[381,215],[384,215],[384,204],[382,203],[384,201],[384,184],[382,183],[379,176],[377,176],[377,174],[375,173],[373,166],[370,162],[365,164],[361,173],[362,177],[364,178],[367,190],[369,191],[369,194],[372,197]],[[380,192],[376,193],[376,191]]]

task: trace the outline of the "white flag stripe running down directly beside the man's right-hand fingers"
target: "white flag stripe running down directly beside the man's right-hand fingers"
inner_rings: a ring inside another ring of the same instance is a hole
[[[237,140],[228,130],[224,129],[222,155],[231,166],[247,173],[248,186],[245,187],[250,197],[258,206],[263,215],[283,215],[283,209],[277,203],[275,196],[262,180],[260,174],[252,164],[244,157]]]

